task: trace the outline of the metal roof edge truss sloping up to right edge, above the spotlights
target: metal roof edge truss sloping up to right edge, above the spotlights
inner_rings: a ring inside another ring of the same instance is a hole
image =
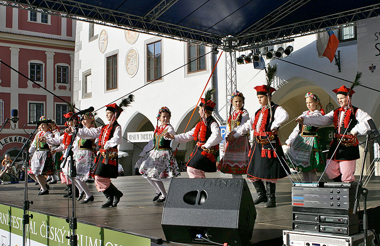
[[[236,37],[239,44],[255,44],[262,40],[272,40],[278,37],[304,36],[311,33],[325,31],[326,28],[336,29],[347,23],[354,23],[361,19],[371,18],[380,15],[380,3],[362,8],[357,8],[333,15],[315,18],[308,21],[294,23],[273,29],[257,31]],[[351,24],[352,25],[352,24]]]

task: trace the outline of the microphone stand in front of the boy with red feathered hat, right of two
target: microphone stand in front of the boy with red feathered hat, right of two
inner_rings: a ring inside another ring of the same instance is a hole
[[[79,123],[83,120],[83,115],[81,119],[79,120]],[[72,188],[71,188],[71,204],[72,204],[72,215],[71,218],[68,217],[66,219],[66,222],[69,223],[69,227],[71,228],[71,234],[70,236],[66,236],[67,239],[70,240],[70,246],[77,246],[78,245],[78,238],[76,235],[76,229],[77,229],[77,219],[76,219],[76,211],[75,211],[75,200],[76,200],[76,191],[75,191],[75,177],[76,177],[76,166],[75,166],[75,160],[73,158],[73,152],[72,152],[72,144],[75,141],[76,134],[79,130],[79,123],[74,127],[75,132],[73,133],[71,143],[69,144],[66,154],[65,154],[65,160],[62,166],[66,165],[68,157],[70,157],[69,164],[70,164],[70,174],[68,175],[72,179]]]

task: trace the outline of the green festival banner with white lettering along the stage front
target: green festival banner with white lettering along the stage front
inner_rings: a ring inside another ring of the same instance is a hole
[[[27,238],[33,246],[69,246],[66,219],[30,212]],[[0,204],[0,245],[21,246],[23,210]],[[150,246],[150,239],[94,225],[77,223],[78,246]]]

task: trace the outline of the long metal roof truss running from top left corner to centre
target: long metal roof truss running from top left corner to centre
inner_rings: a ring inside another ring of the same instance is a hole
[[[217,34],[181,27],[162,21],[153,20],[147,22],[146,19],[141,16],[74,0],[6,0],[5,3],[0,1],[0,4],[52,15],[60,15],[65,18],[93,22],[109,27],[164,36],[180,41],[194,41],[199,44],[220,45],[221,39],[224,38]]]

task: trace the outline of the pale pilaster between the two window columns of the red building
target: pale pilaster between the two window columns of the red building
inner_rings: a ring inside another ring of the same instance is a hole
[[[45,86],[46,89],[53,92],[54,91],[54,52],[46,51],[46,78]],[[46,92],[46,118],[55,119],[55,105],[54,105],[54,96]]]

